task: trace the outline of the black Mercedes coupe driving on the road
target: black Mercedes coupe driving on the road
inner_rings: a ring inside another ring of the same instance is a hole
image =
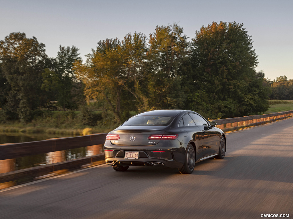
[[[108,133],[105,162],[116,171],[166,166],[190,174],[199,161],[224,158],[226,137],[216,125],[189,110],[143,112]]]

